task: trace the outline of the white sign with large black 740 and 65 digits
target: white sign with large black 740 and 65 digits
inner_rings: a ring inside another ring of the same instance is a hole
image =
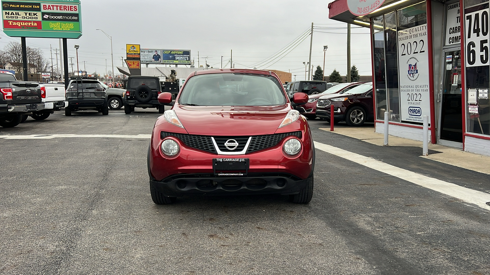
[[[489,9],[466,14],[466,67],[489,64]]]

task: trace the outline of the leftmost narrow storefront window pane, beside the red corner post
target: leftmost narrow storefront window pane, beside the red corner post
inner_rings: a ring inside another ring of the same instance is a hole
[[[384,120],[388,110],[385,80],[385,41],[383,16],[372,19],[372,41],[374,43],[374,88],[376,89],[376,118]]]

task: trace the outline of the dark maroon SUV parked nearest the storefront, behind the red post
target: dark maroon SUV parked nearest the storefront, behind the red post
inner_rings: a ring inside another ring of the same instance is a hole
[[[361,126],[366,121],[373,121],[372,82],[320,97],[317,116],[330,121],[330,105],[334,106],[334,122],[345,120],[349,126]]]

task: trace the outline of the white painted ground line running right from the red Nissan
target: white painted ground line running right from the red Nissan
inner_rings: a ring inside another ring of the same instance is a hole
[[[405,170],[379,160],[375,160],[369,157],[365,157],[356,153],[352,153],[331,145],[323,144],[315,141],[315,148],[327,152],[329,154],[341,157],[346,160],[356,162],[358,164],[367,166],[371,169],[392,175],[400,178],[404,181],[415,183],[417,185],[432,189],[442,194],[458,198],[467,203],[480,206],[484,209],[490,210],[490,206],[486,203],[490,202],[490,194],[466,188],[454,183],[447,183],[438,179],[430,178],[424,175],[417,174],[415,172]]]

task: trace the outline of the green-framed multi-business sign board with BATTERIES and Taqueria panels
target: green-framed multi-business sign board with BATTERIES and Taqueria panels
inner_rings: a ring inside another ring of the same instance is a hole
[[[79,0],[1,1],[3,32],[14,37],[79,38]]]

